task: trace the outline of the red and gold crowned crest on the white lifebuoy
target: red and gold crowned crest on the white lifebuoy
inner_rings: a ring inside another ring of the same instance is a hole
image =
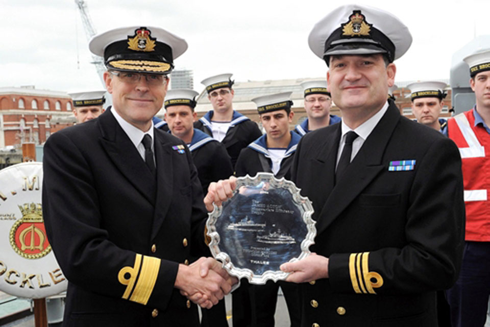
[[[42,220],[42,206],[32,202],[18,207],[22,219],[16,221],[10,229],[10,245],[23,258],[42,258],[51,251]]]

